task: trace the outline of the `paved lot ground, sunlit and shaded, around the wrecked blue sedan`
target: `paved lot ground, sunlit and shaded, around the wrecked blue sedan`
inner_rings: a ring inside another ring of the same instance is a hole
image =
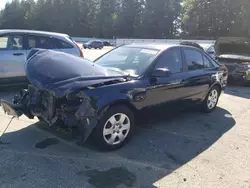
[[[90,58],[104,52],[90,51],[84,51]],[[12,95],[1,92],[0,98]],[[249,188],[249,99],[250,88],[229,87],[211,114],[195,109],[148,114],[150,121],[138,123],[132,141],[110,153],[76,145],[37,120],[11,121],[0,110],[0,185]]]

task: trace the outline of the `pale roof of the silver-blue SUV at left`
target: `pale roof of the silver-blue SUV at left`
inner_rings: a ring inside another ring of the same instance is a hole
[[[0,35],[1,34],[6,34],[6,33],[28,33],[28,34],[40,34],[40,35],[69,37],[69,35],[64,34],[64,33],[48,32],[48,31],[24,30],[24,29],[5,29],[5,30],[0,30]]]

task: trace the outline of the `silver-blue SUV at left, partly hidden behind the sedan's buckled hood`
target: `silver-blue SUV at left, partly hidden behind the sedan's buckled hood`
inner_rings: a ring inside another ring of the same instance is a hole
[[[0,86],[27,83],[24,64],[32,48],[52,49],[83,57],[67,34],[34,30],[0,30]]]

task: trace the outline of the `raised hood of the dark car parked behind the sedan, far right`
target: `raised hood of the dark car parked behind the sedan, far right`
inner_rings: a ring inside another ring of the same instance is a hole
[[[230,56],[234,59],[250,57],[250,39],[244,37],[220,37],[215,42],[215,51],[217,56],[221,58],[230,58]]]

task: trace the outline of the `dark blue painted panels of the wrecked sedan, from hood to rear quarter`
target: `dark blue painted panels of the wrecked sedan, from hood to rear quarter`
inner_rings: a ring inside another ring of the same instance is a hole
[[[35,87],[47,90],[58,98],[72,92],[82,92],[95,99],[95,108],[98,111],[118,102],[130,103],[135,109],[141,110],[181,100],[202,101],[214,84],[223,89],[223,81],[227,79],[227,75],[223,75],[226,71],[223,66],[184,70],[168,77],[151,77],[150,70],[147,70],[146,75],[132,78],[88,60],[51,50],[36,52],[27,61],[26,71]],[[86,89],[101,83],[104,84]]]

